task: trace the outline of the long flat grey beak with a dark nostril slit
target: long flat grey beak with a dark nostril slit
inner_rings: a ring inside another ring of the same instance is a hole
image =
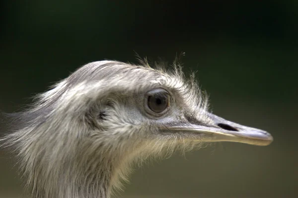
[[[191,132],[193,134],[199,134],[199,141],[232,141],[247,143],[252,145],[266,146],[273,141],[273,137],[270,133],[239,125],[214,114],[208,113],[208,117],[213,121],[212,125],[196,124],[198,122],[175,124],[170,127],[166,127],[166,131],[171,132]]]

